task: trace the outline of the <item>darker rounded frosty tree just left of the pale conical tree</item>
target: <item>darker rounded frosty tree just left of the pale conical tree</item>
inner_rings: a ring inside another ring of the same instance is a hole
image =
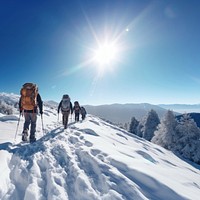
[[[150,110],[147,115],[140,121],[138,126],[138,134],[144,139],[150,141],[154,136],[154,132],[160,123],[160,119],[155,110]]]

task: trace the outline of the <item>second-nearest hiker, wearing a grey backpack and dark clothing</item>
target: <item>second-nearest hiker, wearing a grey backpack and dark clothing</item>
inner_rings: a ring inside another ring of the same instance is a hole
[[[73,113],[72,103],[70,101],[70,97],[68,94],[63,95],[62,100],[60,101],[59,106],[58,106],[58,114],[59,114],[60,109],[63,115],[62,122],[63,122],[64,128],[66,129],[68,125],[68,118],[69,118],[70,111],[71,111],[71,114]]]

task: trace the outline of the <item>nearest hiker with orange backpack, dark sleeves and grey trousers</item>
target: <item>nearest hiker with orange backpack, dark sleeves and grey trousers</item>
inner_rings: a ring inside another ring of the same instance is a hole
[[[43,102],[38,87],[34,83],[25,83],[20,90],[21,97],[19,99],[20,114],[24,115],[25,122],[22,132],[22,141],[28,141],[28,131],[30,129],[30,142],[35,142],[36,121],[38,114],[38,107],[40,115],[43,114]]]

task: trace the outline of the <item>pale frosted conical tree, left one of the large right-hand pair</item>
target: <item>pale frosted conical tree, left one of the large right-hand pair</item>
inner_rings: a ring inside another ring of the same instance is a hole
[[[161,119],[161,123],[158,125],[158,129],[154,132],[152,142],[158,144],[166,149],[172,149],[175,146],[177,121],[174,113],[170,110]]]

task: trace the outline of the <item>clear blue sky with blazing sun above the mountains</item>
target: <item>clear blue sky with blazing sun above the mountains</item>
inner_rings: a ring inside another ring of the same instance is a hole
[[[199,0],[2,0],[0,17],[0,92],[34,82],[44,100],[200,103]]]

